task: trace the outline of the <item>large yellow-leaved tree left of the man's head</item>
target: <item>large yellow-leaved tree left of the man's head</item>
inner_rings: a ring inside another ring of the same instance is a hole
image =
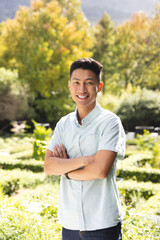
[[[92,36],[76,0],[36,0],[3,27],[3,66],[17,69],[35,95],[41,121],[56,122],[68,111],[69,66],[90,56]]]

